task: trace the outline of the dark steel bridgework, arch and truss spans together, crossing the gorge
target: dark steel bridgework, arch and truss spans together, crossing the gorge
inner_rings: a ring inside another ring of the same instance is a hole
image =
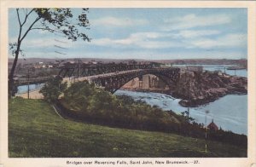
[[[96,83],[97,86],[104,87],[111,93],[120,89],[125,83],[133,78],[141,78],[145,74],[153,74],[160,78],[169,86],[175,86],[180,78],[181,68],[169,67],[160,68],[152,64],[103,64],[84,65],[66,64],[59,72],[61,78],[80,78]]]

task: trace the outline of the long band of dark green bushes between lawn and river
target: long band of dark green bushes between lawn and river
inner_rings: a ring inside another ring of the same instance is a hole
[[[58,101],[67,118],[119,128],[153,130],[196,138],[205,137],[203,124],[195,123],[189,112],[178,115],[134,101],[126,95],[115,96],[86,82],[73,83]],[[247,136],[223,130],[210,131],[207,140],[224,141],[247,147]]]

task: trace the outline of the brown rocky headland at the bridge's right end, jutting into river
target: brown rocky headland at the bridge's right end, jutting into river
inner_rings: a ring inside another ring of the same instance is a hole
[[[132,91],[156,92],[182,99],[183,107],[198,107],[216,101],[224,95],[247,95],[247,78],[230,76],[221,72],[185,72],[175,89],[138,89]]]

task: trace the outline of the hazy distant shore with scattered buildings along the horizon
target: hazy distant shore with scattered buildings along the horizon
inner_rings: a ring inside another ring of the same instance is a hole
[[[227,59],[184,59],[184,60],[113,60],[113,59],[93,59],[93,58],[74,58],[74,59],[42,59],[27,58],[20,59],[15,70],[15,78],[22,78],[30,70],[30,74],[34,77],[44,77],[49,75],[58,75],[59,68],[65,64],[81,63],[88,66],[101,64],[149,64],[154,63],[155,66],[172,66],[172,65],[234,65],[233,68],[247,69],[247,60],[227,60]],[[13,64],[13,59],[9,59],[9,70]]]

